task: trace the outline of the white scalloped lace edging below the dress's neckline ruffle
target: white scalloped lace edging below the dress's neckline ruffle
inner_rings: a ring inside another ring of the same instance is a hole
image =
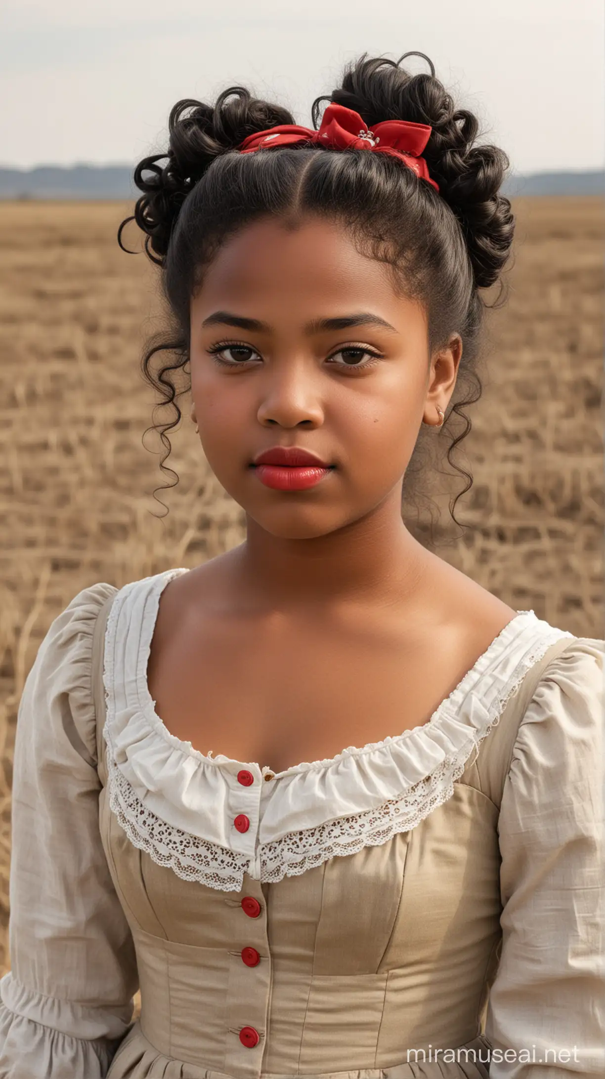
[[[490,709],[486,726],[472,734],[456,753],[445,757],[438,768],[424,777],[404,794],[390,798],[375,809],[339,817],[315,828],[290,832],[274,843],[258,846],[260,880],[275,884],[284,876],[299,876],[331,858],[354,855],[363,847],[387,843],[400,832],[416,828],[433,809],[454,794],[454,784],[462,775],[473,750],[499,723],[510,697],[516,692],[534,663],[540,659],[559,637],[573,638],[559,631],[549,634],[524,656],[511,682]],[[111,669],[111,656],[108,671]],[[109,682],[109,684],[111,684]],[[131,843],[145,850],[158,865],[165,865],[185,880],[197,880],[221,891],[240,891],[244,873],[251,872],[252,861],[218,844],[166,823],[148,810],[112,759],[108,720],[104,736],[107,741],[109,805]]]

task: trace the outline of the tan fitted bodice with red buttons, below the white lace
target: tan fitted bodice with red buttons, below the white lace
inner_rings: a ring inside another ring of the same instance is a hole
[[[498,812],[472,782],[456,782],[413,830],[277,883],[244,872],[237,891],[159,865],[108,801],[104,791],[102,835],[142,999],[112,1079],[152,1074],[158,1053],[166,1067],[203,1061],[237,1079],[359,1069],[378,1079],[395,1066],[407,1075],[408,1049],[482,1044],[501,937]],[[258,1042],[242,1044],[246,1030]]]

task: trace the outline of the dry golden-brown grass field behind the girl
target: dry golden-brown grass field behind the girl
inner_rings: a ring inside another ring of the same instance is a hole
[[[118,248],[119,203],[0,203],[0,970],[6,941],[15,718],[52,619],[97,581],[193,566],[243,538],[182,398],[158,468],[139,373],[158,328],[154,273]],[[516,610],[603,637],[603,205],[517,201],[506,308],[463,463],[474,476],[438,552]],[[131,241],[132,242],[132,241]],[[147,448],[146,448],[147,447]],[[152,452],[150,452],[150,450]],[[462,481],[454,474],[456,494]],[[445,518],[448,518],[447,500]]]

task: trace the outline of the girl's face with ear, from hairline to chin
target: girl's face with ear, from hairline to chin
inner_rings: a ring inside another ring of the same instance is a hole
[[[401,517],[422,418],[436,424],[435,406],[445,411],[460,355],[456,334],[430,357],[424,306],[342,227],[317,218],[247,226],[191,300],[204,453],[246,515],[284,538],[325,535],[387,504]],[[253,462],[273,447],[309,450],[330,470],[299,490],[267,486],[280,474]]]

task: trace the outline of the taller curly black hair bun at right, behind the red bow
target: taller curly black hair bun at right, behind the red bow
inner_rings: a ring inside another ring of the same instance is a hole
[[[425,59],[430,74],[409,74],[399,66],[401,60],[361,57],[347,68],[341,85],[328,98],[313,103],[313,120],[317,125],[320,103],[328,100],[354,109],[368,127],[381,120],[430,124],[431,137],[422,156],[439,183],[440,196],[460,222],[475,287],[486,288],[498,278],[512,245],[511,204],[499,193],[509,159],[499,147],[474,145],[476,117],[455,107],[432,73],[431,60]]]

